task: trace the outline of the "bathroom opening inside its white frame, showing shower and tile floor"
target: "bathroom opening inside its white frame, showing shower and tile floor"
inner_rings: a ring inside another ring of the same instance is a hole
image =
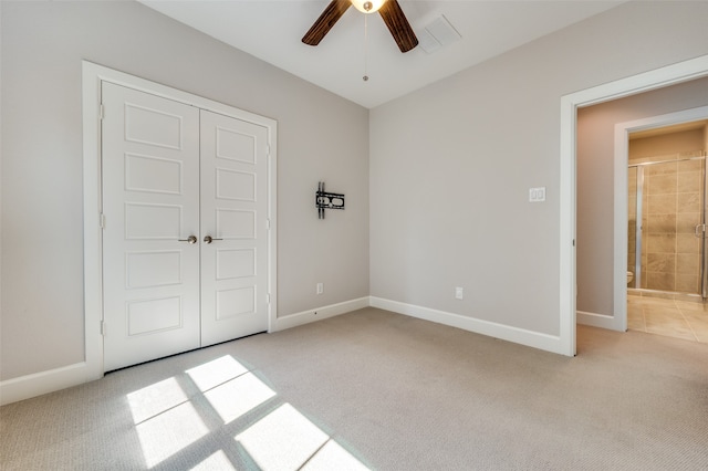
[[[628,134],[627,327],[708,342],[708,119]]]

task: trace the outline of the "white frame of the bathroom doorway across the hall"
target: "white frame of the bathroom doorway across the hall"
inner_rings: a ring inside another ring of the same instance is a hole
[[[615,125],[615,239],[614,250],[614,316],[607,323],[606,328],[614,331],[627,329],[627,205],[628,205],[628,182],[627,166],[629,164],[629,133],[637,130],[655,129],[657,127],[671,126],[675,124],[690,123],[694,121],[707,119],[708,106],[684,109],[676,113],[667,113],[658,116],[650,116],[643,119],[635,119]]]

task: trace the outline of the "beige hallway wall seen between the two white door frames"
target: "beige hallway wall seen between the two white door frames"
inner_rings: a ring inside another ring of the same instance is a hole
[[[706,105],[708,78],[700,78],[579,109],[579,311],[614,315],[615,124]]]

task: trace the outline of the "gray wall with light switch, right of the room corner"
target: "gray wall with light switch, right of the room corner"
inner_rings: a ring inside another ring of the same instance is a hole
[[[707,54],[706,18],[628,2],[373,109],[372,295],[559,334],[561,96]]]

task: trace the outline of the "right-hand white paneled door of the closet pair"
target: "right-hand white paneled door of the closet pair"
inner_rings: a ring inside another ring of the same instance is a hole
[[[268,129],[201,111],[201,343],[268,328]]]

